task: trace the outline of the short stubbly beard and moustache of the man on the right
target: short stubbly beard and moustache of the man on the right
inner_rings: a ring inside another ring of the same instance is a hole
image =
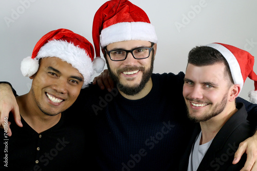
[[[189,98],[186,98],[187,100],[189,101],[194,101],[194,102],[197,102],[197,103],[208,103],[208,102],[203,102],[203,101],[199,101],[199,100],[194,100],[194,99],[189,99]],[[194,111],[192,111],[191,113],[189,112],[189,109],[188,109],[188,106],[187,106],[187,112],[188,112],[188,118],[196,123],[199,123],[199,122],[205,122],[205,121],[208,121],[210,120],[211,118],[219,115],[219,113],[221,113],[225,107],[227,106],[227,94],[225,94],[225,96],[223,97],[222,101],[217,103],[215,106],[213,106],[213,110],[208,110],[208,111],[205,111],[203,113],[203,115],[199,118],[197,117],[194,117]],[[208,104],[212,104],[212,103],[208,103]]]

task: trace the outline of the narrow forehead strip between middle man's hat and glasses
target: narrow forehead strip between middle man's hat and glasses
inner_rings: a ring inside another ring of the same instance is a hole
[[[106,48],[114,49],[114,48],[123,48],[123,49],[133,49],[136,47],[149,47],[151,46],[151,42],[149,41],[122,41],[122,42],[115,42],[106,46]]]

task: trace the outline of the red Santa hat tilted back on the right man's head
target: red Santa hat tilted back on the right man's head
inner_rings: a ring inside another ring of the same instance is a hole
[[[212,47],[224,56],[229,64],[234,84],[239,84],[241,89],[247,77],[254,81],[254,90],[248,93],[250,102],[257,104],[257,75],[253,71],[254,57],[247,51],[231,45],[212,43]]]

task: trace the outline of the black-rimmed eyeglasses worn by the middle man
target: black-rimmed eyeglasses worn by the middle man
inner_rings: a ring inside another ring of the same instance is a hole
[[[112,61],[124,61],[127,58],[127,53],[132,53],[133,57],[137,60],[142,60],[145,58],[148,58],[150,56],[150,53],[153,49],[152,47],[143,47],[143,48],[135,48],[132,50],[111,50],[107,51],[106,48],[104,48],[106,53],[109,55],[109,58]]]

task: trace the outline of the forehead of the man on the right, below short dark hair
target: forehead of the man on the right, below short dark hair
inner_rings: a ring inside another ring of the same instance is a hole
[[[185,78],[200,83],[221,83],[225,82],[226,80],[224,73],[225,65],[222,63],[208,66],[195,66],[192,64],[188,64]]]

